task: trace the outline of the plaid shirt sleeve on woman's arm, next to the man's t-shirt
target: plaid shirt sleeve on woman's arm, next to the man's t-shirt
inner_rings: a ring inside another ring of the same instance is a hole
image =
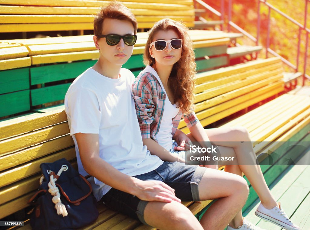
[[[146,78],[147,73],[137,77],[132,85],[132,97],[143,139],[151,137],[151,124],[154,121],[155,105],[152,98],[152,82]]]

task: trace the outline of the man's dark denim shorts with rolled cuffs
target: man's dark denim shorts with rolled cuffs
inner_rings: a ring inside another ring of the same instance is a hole
[[[182,201],[200,201],[198,183],[205,170],[204,167],[185,165],[179,162],[164,162],[157,169],[134,177],[140,180],[163,181],[175,189],[175,196]],[[147,224],[144,220],[144,209],[148,201],[140,200],[134,195],[114,188],[110,189],[101,201],[108,208]]]

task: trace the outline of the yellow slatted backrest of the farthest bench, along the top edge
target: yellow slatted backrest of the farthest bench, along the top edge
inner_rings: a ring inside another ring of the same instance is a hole
[[[1,0],[1,32],[92,30],[94,15],[110,1],[72,0]],[[182,20],[193,27],[195,11],[192,0],[123,0],[136,16],[138,28],[151,28],[166,17]]]

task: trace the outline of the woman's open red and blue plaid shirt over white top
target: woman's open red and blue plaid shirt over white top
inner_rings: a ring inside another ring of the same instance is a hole
[[[139,74],[132,85],[132,97],[135,100],[142,138],[152,138],[158,142],[156,135],[162,120],[166,93],[152,73],[144,72]],[[179,113],[172,119],[172,137],[174,137],[182,116],[188,128],[199,122],[195,112],[182,115],[182,111],[179,110]]]

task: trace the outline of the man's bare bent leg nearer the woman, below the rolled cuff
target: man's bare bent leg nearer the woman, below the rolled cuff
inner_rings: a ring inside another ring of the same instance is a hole
[[[218,199],[200,220],[204,229],[212,230],[223,230],[240,212],[249,193],[241,176],[210,168],[206,168],[198,190],[200,200]]]

